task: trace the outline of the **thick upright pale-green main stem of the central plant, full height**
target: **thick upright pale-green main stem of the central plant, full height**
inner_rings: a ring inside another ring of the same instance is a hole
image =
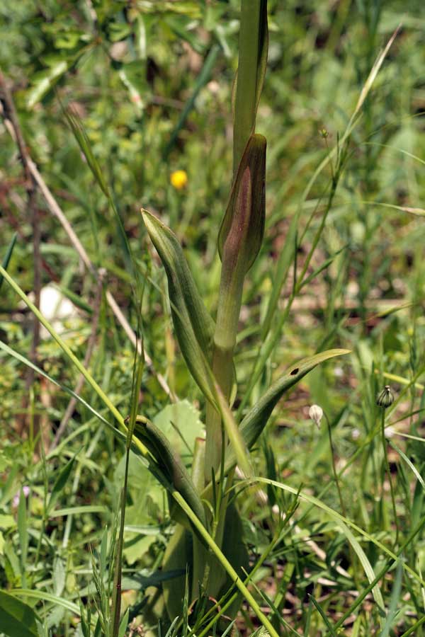
[[[234,101],[234,180],[237,177],[239,163],[241,163],[249,138],[255,132],[256,109],[263,81],[261,60],[265,59],[263,52],[266,47],[266,13],[266,0],[242,0],[241,2],[239,64]],[[265,70],[265,67],[263,70]],[[264,140],[263,170],[265,170],[265,152]],[[258,174],[261,173],[261,169],[258,166],[255,171]],[[245,202],[248,207],[246,210],[241,210],[242,216],[237,223],[237,227],[232,226],[229,231],[232,236],[227,236],[225,241],[227,248],[225,247],[221,255],[220,294],[212,353],[212,371],[226,400],[229,400],[232,391],[233,350],[236,343],[237,323],[242,303],[244,275],[246,274],[246,268],[241,263],[238,263],[238,256],[244,248],[244,243],[246,243],[247,228],[244,228],[244,225],[246,216],[249,217],[248,210],[252,203],[251,197],[254,196],[251,190],[252,176],[248,167],[244,178],[245,180],[241,178],[244,183],[240,185],[241,200],[239,201],[238,195],[238,201],[235,201],[234,205],[243,208],[244,202],[242,199],[244,194],[246,194],[244,193],[244,188],[249,190],[249,204]],[[261,185],[256,184],[256,189],[261,190]],[[210,404],[207,405],[206,432],[205,480],[209,481],[212,469],[217,469],[220,464],[222,453],[222,420],[215,408]]]

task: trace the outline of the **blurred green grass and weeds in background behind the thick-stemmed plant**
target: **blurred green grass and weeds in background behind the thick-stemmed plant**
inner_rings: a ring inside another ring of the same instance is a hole
[[[397,396],[412,377],[420,381],[424,371],[425,16],[420,0],[269,0],[268,13],[268,70],[256,127],[268,139],[266,234],[244,296],[243,347],[236,352],[239,396],[244,395],[264,337],[263,321],[290,220],[300,213],[296,258],[280,294],[280,311],[292,291],[294,268],[302,267],[322,221],[330,166],[318,174],[307,198],[305,188],[346,130],[373,62],[402,23],[351,135],[344,173],[309,266],[314,276],[295,298],[250,398],[254,401],[278,372],[300,357],[331,347],[353,350],[346,360],[312,372],[276,409],[256,457],[259,471],[267,466],[271,475],[273,465],[288,483],[296,488],[302,484],[317,495],[331,474],[329,445],[326,430],[318,431],[308,419],[308,406],[319,403],[334,423],[341,469],[375,426],[375,394],[381,384],[390,382]],[[196,409],[198,389],[176,350],[164,271],[149,247],[140,207],[157,214],[179,237],[205,303],[214,313],[220,276],[217,231],[232,179],[231,93],[238,31],[237,0],[3,0],[0,6],[0,68],[13,93],[28,153],[92,262],[106,270],[106,286],[132,328],[143,335],[155,372],[166,378],[177,396],[187,399],[179,403],[179,418],[189,423],[193,435],[203,417]],[[141,326],[119,224],[74,139],[64,116],[67,109],[84,125],[146,277]],[[8,272],[30,292],[35,265],[26,183],[16,143],[4,123],[0,136],[0,256],[16,232]],[[173,178],[175,171],[184,171],[181,180]],[[41,285],[55,284],[72,302],[63,336],[83,360],[98,306],[91,373],[125,411],[132,382],[132,345],[106,304],[104,291],[96,301],[96,281],[40,194],[36,207],[41,233],[36,268]],[[406,208],[416,209],[416,214]],[[321,271],[315,274],[317,270]],[[30,352],[33,321],[6,282],[1,287],[0,335],[23,355]],[[90,580],[86,546],[98,544],[101,529],[118,505],[122,449],[79,407],[62,437],[66,444],[50,452],[43,465],[37,432],[35,437],[28,435],[28,423],[41,419],[48,453],[69,398],[37,377],[28,387],[22,365],[4,352],[0,359],[0,475],[6,485],[0,496],[4,516],[0,515],[0,585],[23,585],[13,498],[20,486],[29,485],[30,579],[38,590],[78,601],[78,591]],[[60,348],[43,335],[37,360],[63,384],[77,383],[77,372],[64,361]],[[421,386],[410,387],[397,405],[395,428],[401,434],[424,437],[421,413],[412,415],[423,406],[421,391]],[[89,389],[82,389],[82,396],[102,411]],[[152,367],[146,367],[145,415],[164,417],[168,403]],[[72,437],[72,432],[77,434]],[[423,443],[406,437],[395,442],[423,473]],[[379,470],[374,457],[380,453],[376,447],[372,444],[359,453],[341,481],[348,517],[385,541],[390,505],[382,511],[376,497]],[[76,452],[77,473],[74,483],[70,481],[60,493],[60,506],[96,503],[101,508],[53,517],[42,527],[45,486],[51,488],[55,471]],[[390,460],[397,475],[399,524],[410,528],[412,520],[425,515],[423,491],[419,483],[414,488],[414,474],[394,450]],[[47,466],[47,474],[42,466]],[[152,573],[169,527],[164,526],[162,489],[140,471],[135,466],[130,475],[127,522],[139,527],[150,524],[156,532],[129,532],[125,558],[128,567]],[[335,489],[324,501],[339,508]],[[261,551],[268,533],[261,527],[266,513],[252,498],[244,507],[249,546]],[[280,546],[272,566],[261,571],[269,590],[277,578],[279,558],[285,556],[285,565],[292,565],[285,566],[285,586],[292,595],[285,609],[293,613],[295,628],[305,625],[302,602],[308,604],[307,592],[314,589],[315,595],[320,594],[324,586],[318,583],[320,578],[337,579],[333,565],[346,566],[348,552],[344,536],[327,527],[319,510],[310,511],[303,524],[297,538]],[[45,540],[37,548],[40,529]],[[305,529],[324,546],[326,559],[305,546]],[[363,548],[373,566],[379,565],[376,547]],[[407,560],[424,572],[423,536],[416,538]],[[350,580],[341,580],[337,590],[349,597],[351,585]],[[397,635],[420,617],[419,587],[404,585],[409,597]],[[143,590],[140,584],[132,604],[143,604]],[[324,603],[330,611],[335,604],[332,612],[337,613],[344,599],[330,594]],[[57,611],[54,604],[46,608],[53,634],[74,634],[72,614],[63,607]],[[363,609],[357,634],[375,634],[367,632],[372,615],[373,609]],[[327,634],[321,632],[320,621],[319,617],[317,632],[311,634]],[[421,635],[417,630],[415,634]]]

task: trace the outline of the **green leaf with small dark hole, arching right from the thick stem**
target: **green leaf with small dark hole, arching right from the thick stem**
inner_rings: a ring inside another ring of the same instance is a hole
[[[305,377],[305,375],[308,374],[308,372],[311,372],[314,367],[319,365],[319,363],[329,360],[329,358],[333,358],[335,356],[349,354],[350,351],[351,350],[341,349],[327,350],[326,352],[321,352],[320,354],[304,358],[303,360],[300,360],[300,362],[292,365],[288,369],[288,372],[283,374],[283,376],[271,385],[271,387],[266,391],[266,394],[261,396],[258,403],[251,408],[251,411],[249,411],[242,420],[240,432],[246,447],[251,449],[256,440],[258,440],[264,427],[266,427],[271,412],[276,407],[283,394],[285,394],[285,391],[288,391],[288,389],[297,384],[302,377]],[[234,464],[236,464],[236,461],[234,451],[232,447],[230,447],[225,463],[225,473],[229,471]]]

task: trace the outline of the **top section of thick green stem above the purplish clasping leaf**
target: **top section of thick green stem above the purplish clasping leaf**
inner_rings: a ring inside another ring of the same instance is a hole
[[[242,0],[234,104],[233,176],[236,175],[246,143],[255,128],[260,20],[261,0]]]

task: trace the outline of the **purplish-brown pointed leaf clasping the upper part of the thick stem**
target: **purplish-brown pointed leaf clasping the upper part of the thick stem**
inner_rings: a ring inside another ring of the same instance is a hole
[[[218,234],[223,269],[244,276],[261,248],[266,212],[266,138],[251,135]]]

